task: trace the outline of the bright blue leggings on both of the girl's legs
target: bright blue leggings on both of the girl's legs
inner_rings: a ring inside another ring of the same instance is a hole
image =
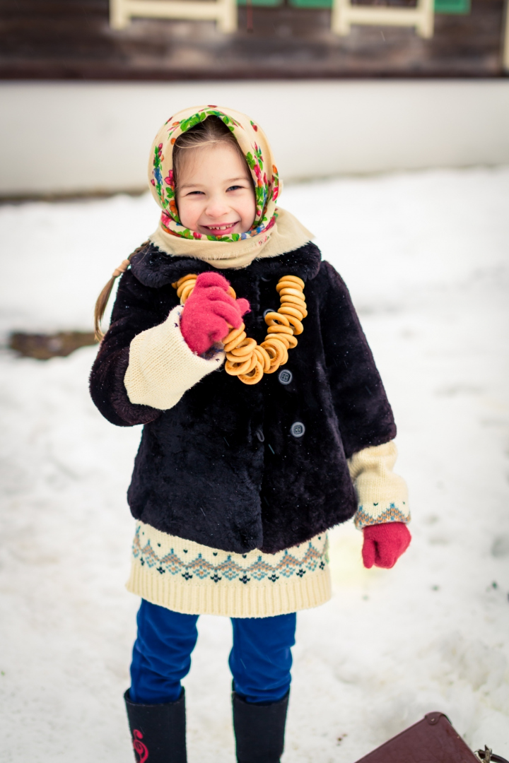
[[[290,687],[295,613],[275,617],[232,617],[230,671],[246,702],[281,700]],[[144,704],[175,702],[191,668],[198,615],[184,615],[142,599],[130,666],[130,699]]]

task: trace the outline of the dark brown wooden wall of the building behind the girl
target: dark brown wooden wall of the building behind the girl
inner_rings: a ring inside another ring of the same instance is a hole
[[[394,2],[394,0],[393,0]],[[404,4],[408,0],[400,0]],[[330,11],[254,8],[246,31],[213,22],[108,24],[108,0],[2,0],[2,79],[258,79],[501,76],[503,0],[473,0],[468,15],[437,15],[432,40],[406,28],[330,33]]]

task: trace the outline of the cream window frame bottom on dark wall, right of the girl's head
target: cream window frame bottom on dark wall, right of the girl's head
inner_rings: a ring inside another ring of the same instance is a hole
[[[350,34],[352,24],[385,27],[415,27],[420,37],[433,37],[434,0],[417,0],[415,8],[388,8],[383,5],[352,5],[351,0],[333,0],[331,31]]]

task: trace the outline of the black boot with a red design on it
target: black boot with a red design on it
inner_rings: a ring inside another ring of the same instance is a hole
[[[137,763],[187,763],[185,694],[163,705],[142,705],[124,694],[134,758]]]

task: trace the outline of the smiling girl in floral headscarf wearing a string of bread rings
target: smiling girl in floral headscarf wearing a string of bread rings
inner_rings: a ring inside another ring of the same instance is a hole
[[[111,423],[145,425],[128,491],[134,751],[185,763],[181,681],[211,613],[234,630],[237,760],[279,763],[295,613],[330,597],[327,530],[355,514],[366,567],[410,542],[395,423],[346,286],[276,206],[261,128],[181,111],[149,176],[159,226],[98,300],[97,322],[122,273],[91,376]]]

